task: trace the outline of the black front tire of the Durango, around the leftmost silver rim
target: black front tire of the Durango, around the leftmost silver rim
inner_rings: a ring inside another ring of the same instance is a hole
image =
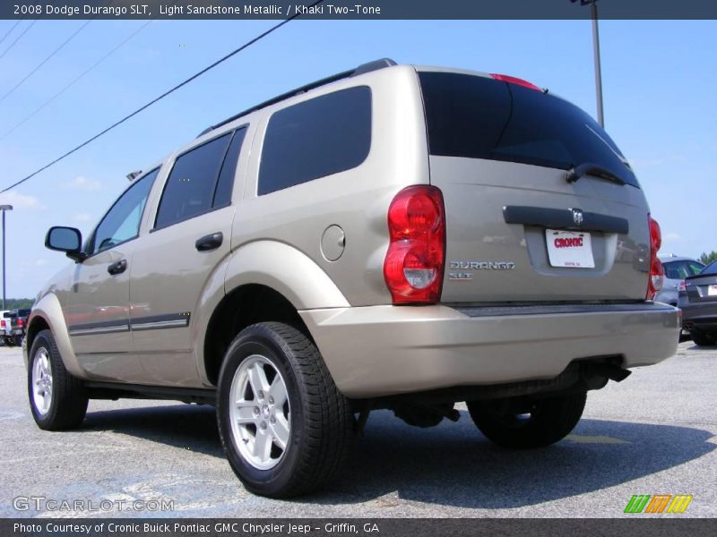
[[[38,406],[34,396],[35,386],[33,383],[35,363],[41,360],[43,352],[47,354],[48,367],[51,372],[51,394],[46,409]],[[29,357],[28,398],[32,417],[38,427],[44,430],[68,430],[80,425],[87,413],[87,390],[80,379],[76,379],[65,369],[65,363],[57,350],[52,332],[42,330],[35,337]]]

